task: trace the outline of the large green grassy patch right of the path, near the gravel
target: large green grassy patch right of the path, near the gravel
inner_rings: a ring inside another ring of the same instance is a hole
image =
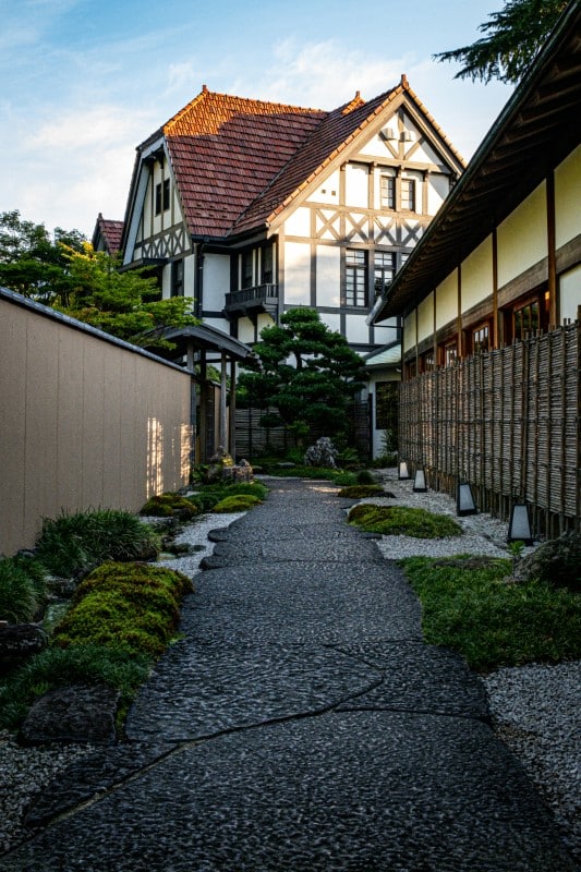
[[[581,657],[581,596],[540,581],[506,583],[509,560],[401,561],[422,602],[426,642],[460,653],[473,669]]]

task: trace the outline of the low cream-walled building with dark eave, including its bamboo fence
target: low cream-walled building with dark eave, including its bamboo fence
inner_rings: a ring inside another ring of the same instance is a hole
[[[576,2],[368,318],[402,319],[402,453],[548,535],[581,511],[580,108]]]

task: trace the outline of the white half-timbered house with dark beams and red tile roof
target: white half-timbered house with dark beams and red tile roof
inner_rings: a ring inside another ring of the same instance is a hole
[[[406,76],[330,112],[204,86],[136,149],[122,268],[149,267],[164,296],[192,296],[204,324],[250,344],[316,307],[370,361],[377,453],[399,324],[366,317],[463,168]]]

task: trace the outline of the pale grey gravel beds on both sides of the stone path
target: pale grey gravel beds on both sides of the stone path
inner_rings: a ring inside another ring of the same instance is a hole
[[[421,506],[456,517],[455,502],[447,495],[434,492],[414,494],[412,482],[400,482],[394,471],[385,471],[383,475],[386,488],[394,493],[395,498],[365,501]],[[183,531],[179,542],[199,549],[183,557],[165,559],[165,566],[195,576],[201,560],[214,552],[215,546],[207,537],[209,531],[226,528],[239,517],[241,514],[237,513],[198,519]],[[460,553],[508,556],[505,522],[487,514],[457,520],[463,528],[462,536],[431,541],[384,536],[377,545],[389,560]],[[553,810],[571,855],[581,863],[581,662],[498,669],[485,676],[484,683],[497,735],[537,786]],[[93,752],[90,746],[21,748],[10,734],[0,731],[0,853],[27,837],[22,826],[23,813],[39,791],[60,772]]]

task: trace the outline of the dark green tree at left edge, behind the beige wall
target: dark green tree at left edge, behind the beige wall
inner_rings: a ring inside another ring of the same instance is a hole
[[[70,284],[61,243],[81,251],[84,241],[78,230],[57,228],[51,239],[44,225],[23,220],[17,209],[1,213],[0,284],[51,305]]]

